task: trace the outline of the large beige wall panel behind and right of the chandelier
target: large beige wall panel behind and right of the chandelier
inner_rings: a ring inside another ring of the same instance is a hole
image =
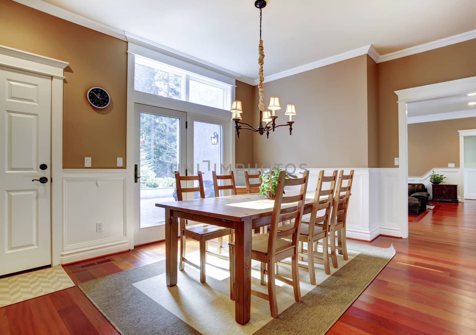
[[[266,82],[264,90],[265,107],[270,96],[280,98],[279,124],[288,121],[286,104],[294,103],[297,115],[292,136],[287,127],[276,129],[269,139],[255,134],[254,162],[258,166],[368,166],[367,55]],[[255,92],[255,123],[258,113]]]

